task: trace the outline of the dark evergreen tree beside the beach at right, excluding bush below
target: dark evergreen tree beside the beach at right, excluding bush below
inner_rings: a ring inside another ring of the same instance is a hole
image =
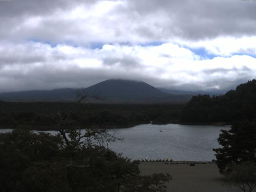
[[[234,122],[230,130],[221,130],[218,138],[222,148],[213,149],[220,173],[229,172],[234,164],[256,163],[256,123]]]

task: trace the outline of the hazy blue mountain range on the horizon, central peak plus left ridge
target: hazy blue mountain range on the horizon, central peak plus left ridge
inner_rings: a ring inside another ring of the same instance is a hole
[[[181,103],[187,102],[192,96],[173,95],[162,92],[142,81],[110,79],[85,89],[55,89],[50,91],[33,90],[22,92],[0,93],[4,101],[72,101],[76,92],[102,96],[107,103]],[[92,100],[93,101],[93,100]]]

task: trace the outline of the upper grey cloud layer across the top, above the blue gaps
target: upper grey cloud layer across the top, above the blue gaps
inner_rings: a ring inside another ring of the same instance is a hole
[[[106,44],[250,37],[255,8],[234,0],[2,1],[0,38]]]

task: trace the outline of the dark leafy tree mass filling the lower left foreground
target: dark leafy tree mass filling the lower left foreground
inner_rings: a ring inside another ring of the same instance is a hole
[[[86,140],[69,146],[61,134],[29,130],[0,134],[0,191],[165,191],[170,175],[140,176],[139,162],[93,145],[98,130],[90,131]]]

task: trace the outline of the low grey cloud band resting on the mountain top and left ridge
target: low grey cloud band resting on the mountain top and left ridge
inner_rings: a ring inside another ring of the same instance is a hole
[[[125,72],[105,69],[81,69],[78,66],[63,70],[52,65],[39,66],[29,72],[0,72],[0,92],[17,90],[51,90],[54,88],[86,88],[107,79],[143,80],[160,82],[139,72]],[[5,82],[5,83],[4,83]]]

